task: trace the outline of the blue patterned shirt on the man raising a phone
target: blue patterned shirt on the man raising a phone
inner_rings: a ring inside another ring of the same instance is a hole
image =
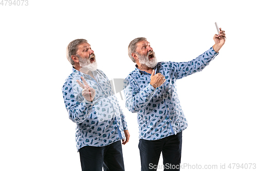
[[[177,96],[176,81],[203,70],[217,55],[211,47],[189,62],[159,62],[155,74],[166,82],[156,89],[150,84],[151,74],[136,68],[125,79],[125,105],[137,112],[139,139],[157,140],[185,130],[188,126]]]

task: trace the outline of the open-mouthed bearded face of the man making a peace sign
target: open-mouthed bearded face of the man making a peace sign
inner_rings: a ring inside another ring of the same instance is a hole
[[[97,69],[96,56],[88,43],[79,45],[76,54],[79,57],[79,64],[81,67],[94,71]]]

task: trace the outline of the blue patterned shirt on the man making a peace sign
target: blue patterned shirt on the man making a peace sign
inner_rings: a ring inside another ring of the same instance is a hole
[[[77,149],[83,146],[105,146],[125,138],[125,116],[113,93],[111,83],[99,69],[93,71],[95,79],[75,68],[66,79],[62,92],[69,119],[77,124]],[[82,88],[76,82],[84,77],[96,90],[93,102],[82,96]]]

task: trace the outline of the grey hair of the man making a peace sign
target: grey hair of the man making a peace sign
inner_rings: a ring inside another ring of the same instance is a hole
[[[72,42],[70,42],[67,46],[66,49],[66,57],[67,60],[69,61],[69,63],[74,66],[75,62],[71,59],[72,55],[75,55],[78,51],[78,47],[79,45],[81,45],[82,43],[87,43],[87,40],[85,39],[76,39]]]

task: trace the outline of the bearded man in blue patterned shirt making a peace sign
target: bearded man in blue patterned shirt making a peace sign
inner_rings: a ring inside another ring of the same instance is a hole
[[[62,92],[69,119],[77,124],[82,170],[124,170],[120,140],[126,144],[130,134],[111,83],[97,69],[95,53],[86,40],[70,42],[67,59],[73,68]]]

